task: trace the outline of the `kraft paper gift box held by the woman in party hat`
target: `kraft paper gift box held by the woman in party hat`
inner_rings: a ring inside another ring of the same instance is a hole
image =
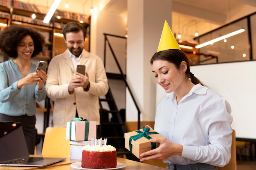
[[[147,135],[148,134],[148,135]],[[148,137],[147,137],[148,136]],[[139,138],[140,137],[140,138]],[[125,147],[137,158],[141,158],[140,154],[159,146],[159,143],[150,142],[150,138],[166,139],[159,133],[143,126],[140,130],[127,132],[124,134]],[[132,139],[133,138],[133,139]],[[136,139],[139,138],[139,139]],[[134,140],[135,139],[135,140]]]

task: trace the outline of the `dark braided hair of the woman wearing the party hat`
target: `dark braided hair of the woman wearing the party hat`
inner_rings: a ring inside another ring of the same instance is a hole
[[[171,62],[175,65],[175,67],[179,70],[180,69],[180,63],[182,61],[186,62],[186,76],[191,79],[191,82],[193,84],[202,84],[202,82],[196,78],[191,72],[190,72],[190,65],[189,65],[189,59],[186,57],[186,55],[178,49],[171,49],[171,50],[164,50],[159,51],[153,55],[153,57],[150,60],[150,64],[152,65],[155,60],[163,60],[167,62]],[[205,86],[202,84],[202,86]]]

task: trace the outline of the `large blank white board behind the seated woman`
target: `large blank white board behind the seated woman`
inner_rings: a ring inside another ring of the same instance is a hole
[[[256,61],[198,65],[190,70],[229,102],[236,137],[256,140]]]

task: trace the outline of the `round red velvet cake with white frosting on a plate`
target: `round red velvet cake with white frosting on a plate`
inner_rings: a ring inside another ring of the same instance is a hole
[[[85,145],[82,152],[82,168],[103,169],[117,167],[117,150],[111,145]]]

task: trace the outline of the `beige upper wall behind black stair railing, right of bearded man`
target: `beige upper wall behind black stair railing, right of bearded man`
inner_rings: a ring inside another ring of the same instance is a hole
[[[100,56],[103,60],[104,56],[104,35],[103,33],[117,35],[125,37],[126,35],[126,18],[120,15],[114,15],[112,13],[107,13],[99,11],[97,15],[97,37],[91,39],[91,44],[96,43],[96,54]],[[92,32],[94,30],[92,29]],[[114,38],[108,36],[110,44],[115,52],[116,57],[121,64],[122,71],[126,73],[126,39]],[[93,53],[93,52],[92,52]],[[106,55],[106,72],[107,73],[117,73],[120,74],[117,65],[115,64],[114,58],[110,53],[110,49],[107,47]]]

